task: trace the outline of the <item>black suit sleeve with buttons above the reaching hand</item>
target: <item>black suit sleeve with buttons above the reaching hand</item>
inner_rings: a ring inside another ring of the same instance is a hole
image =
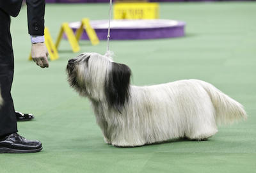
[[[44,35],[45,0],[26,0],[28,33],[33,36]]]

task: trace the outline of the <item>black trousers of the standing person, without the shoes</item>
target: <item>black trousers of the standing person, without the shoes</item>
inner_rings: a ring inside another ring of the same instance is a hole
[[[0,137],[17,132],[11,88],[13,80],[13,50],[10,15],[0,9],[0,87],[3,105],[0,107]]]

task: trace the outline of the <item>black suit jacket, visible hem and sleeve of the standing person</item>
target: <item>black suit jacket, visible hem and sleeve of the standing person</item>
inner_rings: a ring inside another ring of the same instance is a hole
[[[44,35],[45,0],[26,0],[28,15],[28,33],[31,35]],[[0,0],[0,9],[17,17],[20,12],[22,0]]]

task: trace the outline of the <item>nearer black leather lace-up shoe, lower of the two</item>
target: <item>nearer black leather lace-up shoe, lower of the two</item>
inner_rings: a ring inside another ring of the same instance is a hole
[[[18,133],[0,138],[0,153],[35,153],[43,149],[38,140],[26,140]]]

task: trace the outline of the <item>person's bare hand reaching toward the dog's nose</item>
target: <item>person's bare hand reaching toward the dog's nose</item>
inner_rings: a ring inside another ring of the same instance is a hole
[[[49,67],[47,56],[48,51],[45,43],[32,43],[31,57],[36,65],[42,68]]]

